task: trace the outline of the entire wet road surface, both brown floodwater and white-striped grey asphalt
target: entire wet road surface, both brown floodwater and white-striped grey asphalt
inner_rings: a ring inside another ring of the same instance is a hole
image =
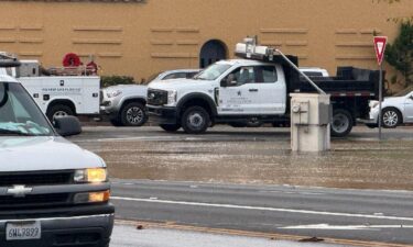
[[[70,141],[106,160],[117,218],[410,246],[413,128],[377,136],[356,127],[317,154],[272,127],[88,126]]]

